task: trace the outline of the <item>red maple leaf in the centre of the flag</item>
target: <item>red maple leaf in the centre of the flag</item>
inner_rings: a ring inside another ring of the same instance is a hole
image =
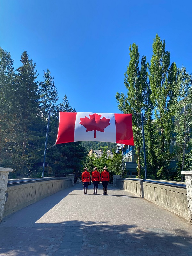
[[[88,117],[80,118],[81,122],[79,124],[87,128],[86,132],[95,131],[94,138],[96,139],[96,131],[105,132],[104,129],[110,125],[110,118],[101,118],[102,115],[92,114]]]

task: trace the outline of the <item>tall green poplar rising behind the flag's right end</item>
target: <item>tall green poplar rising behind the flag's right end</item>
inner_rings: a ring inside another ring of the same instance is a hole
[[[118,108],[123,113],[132,114],[133,135],[135,151],[137,154],[137,172],[138,178],[141,174],[141,156],[142,147],[141,134],[141,112],[148,106],[149,86],[147,82],[147,64],[146,56],[141,58],[141,67],[139,68],[138,46],[134,43],[129,47],[130,62],[125,73],[124,84],[127,88],[127,96],[124,93],[116,93],[116,99],[119,103]]]

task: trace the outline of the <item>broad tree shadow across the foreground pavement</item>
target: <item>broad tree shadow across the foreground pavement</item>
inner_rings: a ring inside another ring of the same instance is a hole
[[[66,221],[61,227],[0,228],[0,255],[189,256],[185,230]]]

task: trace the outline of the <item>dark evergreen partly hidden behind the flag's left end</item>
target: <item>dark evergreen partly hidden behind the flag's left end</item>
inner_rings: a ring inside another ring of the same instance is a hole
[[[75,112],[75,109],[69,106],[66,95],[63,97],[62,103],[57,106],[57,110]],[[46,154],[48,166],[45,168],[45,175],[60,176],[60,174],[72,174],[73,170],[80,169],[82,161],[85,161],[85,157],[88,154],[85,148],[81,145],[81,142],[63,143],[52,147],[57,138],[58,123],[58,113],[55,113],[51,117],[50,122],[47,144],[48,150]]]

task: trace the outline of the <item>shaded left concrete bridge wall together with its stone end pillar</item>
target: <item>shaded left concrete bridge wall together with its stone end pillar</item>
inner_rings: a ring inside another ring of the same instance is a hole
[[[12,169],[0,168],[0,221],[29,204],[74,185],[74,175],[8,180],[9,171]]]

